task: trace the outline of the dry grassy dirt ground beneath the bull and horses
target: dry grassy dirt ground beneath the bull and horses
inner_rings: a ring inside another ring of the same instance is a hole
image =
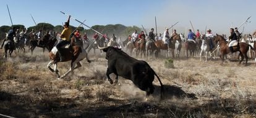
[[[147,60],[164,84],[155,77],[155,92],[146,93],[132,82],[106,79],[105,53],[92,63],[82,61],[74,76],[56,79],[46,65],[48,52],[36,49],[4,59],[0,51],[0,114],[12,117],[256,117],[255,61],[237,65],[238,60],[216,58],[174,59],[174,68],[164,68],[165,58]],[[144,58],[142,58],[144,60]],[[70,62],[59,63],[59,73]],[[114,79],[114,75],[111,75]],[[0,116],[1,117],[1,116]]]

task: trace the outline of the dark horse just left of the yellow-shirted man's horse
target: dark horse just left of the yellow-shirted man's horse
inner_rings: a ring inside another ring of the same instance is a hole
[[[57,36],[57,34],[56,34]],[[35,47],[41,47],[43,48],[43,52],[45,52],[45,48],[48,51],[51,51],[51,49],[53,49],[53,46],[55,44],[55,42],[57,41],[56,36],[49,38],[48,36],[44,36],[43,37],[43,41],[36,40],[36,39],[32,39],[30,40],[30,50],[31,53],[33,54],[33,50],[35,49]]]

